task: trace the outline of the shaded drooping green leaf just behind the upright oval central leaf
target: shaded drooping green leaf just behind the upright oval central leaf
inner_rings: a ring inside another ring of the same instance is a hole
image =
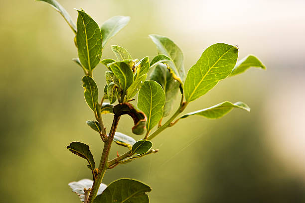
[[[162,117],[168,116],[173,108],[173,103],[179,92],[179,83],[173,79],[169,73],[167,66],[158,64],[152,71],[150,80],[156,81],[165,92],[165,104],[163,107]]]

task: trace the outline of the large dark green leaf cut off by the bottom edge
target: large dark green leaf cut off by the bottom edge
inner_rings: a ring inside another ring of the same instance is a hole
[[[123,178],[109,184],[93,203],[149,203],[146,193],[151,191],[151,187],[140,181]]]

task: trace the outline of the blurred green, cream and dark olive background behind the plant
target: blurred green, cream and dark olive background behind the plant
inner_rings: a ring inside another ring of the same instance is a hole
[[[243,101],[219,120],[192,116],[153,140],[157,154],[107,172],[151,185],[152,203],[305,203],[304,0],[59,0],[76,21],[83,8],[99,24],[114,15],[131,21],[109,45],[134,58],[156,55],[149,34],[169,36],[189,69],[216,42],[252,53],[267,71],[251,69],[220,82],[187,111]],[[68,183],[91,178],[71,141],[90,145],[98,162],[103,146],[85,121],[74,34],[49,5],[0,1],[0,194],[3,203],[77,203]],[[102,91],[105,67],[94,73]],[[178,101],[177,101],[178,102]],[[109,128],[111,115],[104,120]],[[119,131],[132,135],[124,117]],[[140,139],[136,135],[132,135]],[[113,145],[113,153],[124,152]]]

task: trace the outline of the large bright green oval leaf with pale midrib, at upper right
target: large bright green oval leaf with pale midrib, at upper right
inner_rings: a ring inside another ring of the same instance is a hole
[[[185,99],[191,102],[206,94],[234,68],[238,48],[217,43],[208,47],[187,73],[184,83]]]

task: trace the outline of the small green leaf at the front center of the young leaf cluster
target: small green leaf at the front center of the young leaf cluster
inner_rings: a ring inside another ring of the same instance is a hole
[[[115,76],[119,79],[120,87],[123,91],[126,91],[134,81],[131,63],[135,64],[132,60],[125,60],[117,61],[109,65]]]

